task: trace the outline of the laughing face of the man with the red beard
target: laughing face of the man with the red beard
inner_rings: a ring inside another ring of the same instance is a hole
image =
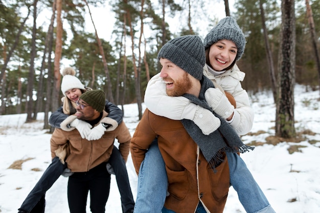
[[[190,75],[168,59],[161,58],[160,63],[162,65],[160,77],[166,83],[168,96],[182,96],[189,93],[192,88]]]

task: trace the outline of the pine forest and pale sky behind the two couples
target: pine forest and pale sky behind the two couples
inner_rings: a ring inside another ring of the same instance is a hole
[[[161,69],[156,57],[159,49],[181,35],[203,39],[222,18],[213,12],[221,5],[221,12],[235,17],[246,37],[245,52],[237,64],[246,73],[242,86],[249,95],[275,90],[275,79],[282,79],[279,64],[285,60],[281,43],[286,34],[281,32],[286,28],[286,4],[294,12],[290,82],[305,85],[306,90],[319,86],[320,0],[230,3],[231,7],[227,0],[0,0],[0,114],[27,113],[26,122],[32,122],[37,112],[45,112],[44,128],[48,128],[48,113],[61,105],[60,72],[67,65],[77,70],[84,85],[106,91],[109,101],[122,106],[137,103],[141,117],[146,85]],[[313,28],[306,5],[312,8]],[[103,20],[95,13],[102,8],[109,18]],[[103,29],[96,27],[101,21]],[[88,31],[89,25],[94,32]]]

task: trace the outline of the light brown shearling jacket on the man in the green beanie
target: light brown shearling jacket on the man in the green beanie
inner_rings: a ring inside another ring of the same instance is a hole
[[[107,115],[103,111],[102,119]],[[98,123],[99,124],[99,123]],[[119,151],[125,161],[129,155],[129,146],[131,135],[124,122],[112,131],[106,131],[98,140],[87,140],[81,138],[77,129],[72,131],[64,131],[56,128],[50,139],[51,156],[56,156],[55,151],[60,147],[69,143],[70,153],[68,153],[65,161],[67,167],[72,172],[87,172],[102,162],[109,160],[112,153],[115,138],[119,142]]]

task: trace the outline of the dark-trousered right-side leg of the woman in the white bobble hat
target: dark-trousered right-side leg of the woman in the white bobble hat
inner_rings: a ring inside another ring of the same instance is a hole
[[[111,164],[113,171],[115,171],[116,180],[121,196],[121,206],[123,213],[132,213],[134,208],[134,200],[129,183],[126,163],[122,158],[117,147],[113,146],[112,154],[108,163]]]

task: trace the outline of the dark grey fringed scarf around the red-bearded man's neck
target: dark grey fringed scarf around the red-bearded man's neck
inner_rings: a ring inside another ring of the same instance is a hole
[[[230,124],[226,123],[226,121],[215,113],[208,103],[205,102],[204,92],[209,87],[214,87],[213,83],[205,76],[202,76],[200,83],[201,90],[199,98],[187,93],[183,96],[188,98],[191,102],[211,110],[213,114],[220,119],[221,125],[216,131],[209,135],[205,135],[193,121],[184,119],[181,120],[181,123],[199,146],[204,158],[209,162],[212,169],[216,171],[215,168],[223,161],[223,152],[244,153],[249,150],[254,150],[254,147],[244,145]]]

